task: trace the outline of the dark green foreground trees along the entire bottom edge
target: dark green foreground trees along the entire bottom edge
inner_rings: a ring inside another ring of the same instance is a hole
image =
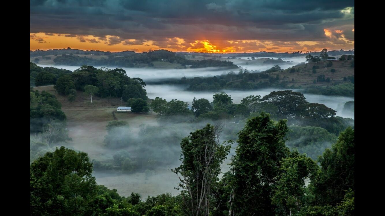
[[[191,132],[173,169],[180,194],[145,201],[97,185],[87,153],[62,146],[30,165],[30,215],[354,215],[354,130],[340,133],[320,165],[285,146],[288,131],[268,113],[249,119],[220,179],[232,141],[220,143],[221,127],[209,124]]]

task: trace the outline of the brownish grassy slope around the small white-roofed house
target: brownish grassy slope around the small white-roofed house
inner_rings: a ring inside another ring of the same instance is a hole
[[[94,96],[93,103],[84,92],[78,91],[75,101],[70,102],[65,96],[55,92],[53,85],[38,86],[34,90],[48,91],[55,95],[62,103],[62,111],[67,116],[67,130],[72,142],[69,145],[75,149],[85,151],[90,158],[97,158],[105,152],[104,136],[107,134],[105,126],[113,121],[112,111],[120,106],[119,98],[99,98]],[[124,104],[122,104],[124,106]],[[124,120],[133,128],[133,133],[139,131],[142,124],[156,125],[155,115],[136,113],[115,113],[117,120]],[[138,126],[138,127],[135,127]]]

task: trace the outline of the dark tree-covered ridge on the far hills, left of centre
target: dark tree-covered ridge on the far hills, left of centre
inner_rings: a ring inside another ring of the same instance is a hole
[[[108,58],[90,58],[80,57],[78,55],[66,55],[62,54],[54,59],[56,65],[94,65],[94,66],[120,66],[120,67],[143,67],[153,66],[153,61],[168,61],[169,63],[178,63],[182,66],[191,65],[191,68],[203,68],[203,67],[226,67],[226,68],[237,68],[231,61],[220,61],[220,60],[187,60],[184,56],[176,55],[174,52],[167,50],[155,50],[148,53],[129,53],[129,55],[118,56],[108,55]]]

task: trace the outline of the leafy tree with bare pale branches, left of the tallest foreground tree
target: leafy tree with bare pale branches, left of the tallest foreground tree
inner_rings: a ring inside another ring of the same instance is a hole
[[[174,172],[179,178],[181,196],[190,216],[209,216],[213,186],[218,181],[221,163],[226,159],[231,145],[219,143],[220,126],[207,124],[203,129],[190,133],[181,142],[182,164]]]

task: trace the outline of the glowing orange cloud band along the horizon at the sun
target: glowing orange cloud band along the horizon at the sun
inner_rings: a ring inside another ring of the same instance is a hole
[[[354,29],[353,29],[354,30]],[[80,50],[100,50],[119,52],[134,50],[135,52],[147,52],[148,50],[165,49],[172,52],[205,52],[205,53],[243,53],[243,52],[297,52],[350,50],[354,48],[354,41],[345,38],[345,35],[335,37],[334,30],[325,29],[325,35],[329,41],[298,41],[282,42],[268,40],[186,40],[184,38],[163,38],[159,41],[123,39],[114,35],[96,37],[92,35],[71,35],[61,33],[30,33],[30,50],[63,49],[70,47]],[[67,37],[65,37],[67,35]]]

